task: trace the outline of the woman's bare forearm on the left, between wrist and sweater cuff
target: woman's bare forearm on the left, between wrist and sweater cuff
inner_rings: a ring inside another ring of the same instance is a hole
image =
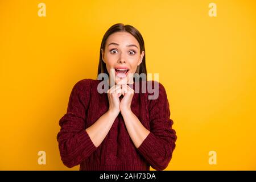
[[[118,114],[116,112],[112,112],[109,110],[100,118],[98,118],[98,120],[93,123],[92,126],[85,129],[96,147],[100,146],[101,142],[109,133],[109,130],[112,127],[115,118],[117,118],[117,115]]]

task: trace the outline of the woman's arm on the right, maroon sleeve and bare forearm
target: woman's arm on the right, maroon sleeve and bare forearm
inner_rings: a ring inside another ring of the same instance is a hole
[[[127,131],[135,147],[156,170],[168,166],[175,148],[176,133],[171,128],[170,109],[163,85],[159,84],[159,97],[150,102],[150,131],[148,131],[136,115],[126,109],[121,110]]]

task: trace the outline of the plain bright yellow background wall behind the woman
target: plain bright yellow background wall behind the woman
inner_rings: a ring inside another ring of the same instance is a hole
[[[166,170],[255,170],[255,12],[255,1],[242,0],[1,0],[0,169],[69,169],[57,148],[59,119],[73,85],[96,78],[106,30],[125,23],[143,35],[148,73],[167,90],[177,142]]]

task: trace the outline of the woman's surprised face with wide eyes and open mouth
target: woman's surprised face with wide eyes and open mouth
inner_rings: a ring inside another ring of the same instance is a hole
[[[133,74],[144,56],[144,51],[140,51],[138,41],[128,32],[115,32],[108,37],[105,50],[101,49],[101,53],[115,84],[133,82]]]

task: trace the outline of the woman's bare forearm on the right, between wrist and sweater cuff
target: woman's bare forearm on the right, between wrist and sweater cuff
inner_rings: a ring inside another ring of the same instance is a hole
[[[135,147],[139,148],[150,131],[142,125],[133,111],[122,112],[122,116],[131,140],[133,140]]]

